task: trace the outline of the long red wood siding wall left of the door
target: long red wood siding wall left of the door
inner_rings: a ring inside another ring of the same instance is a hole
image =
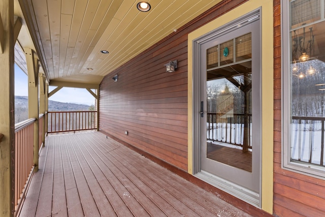
[[[245,1],[221,2],[106,76],[100,131],[187,171],[187,35]],[[165,72],[175,59],[176,72]]]

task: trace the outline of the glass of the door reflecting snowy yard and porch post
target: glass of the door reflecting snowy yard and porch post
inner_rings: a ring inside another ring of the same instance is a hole
[[[252,172],[251,33],[218,46],[220,66],[209,68],[207,63],[206,158]],[[231,48],[227,56],[225,47]]]

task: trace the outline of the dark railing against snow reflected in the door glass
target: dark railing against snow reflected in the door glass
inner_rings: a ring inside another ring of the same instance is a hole
[[[223,113],[207,113],[207,140],[243,146],[244,143],[244,114],[232,114],[227,117]],[[252,119],[247,115],[248,148],[252,148]]]

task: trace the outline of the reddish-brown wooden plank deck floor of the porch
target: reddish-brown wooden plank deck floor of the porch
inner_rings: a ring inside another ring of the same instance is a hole
[[[20,216],[249,216],[100,132],[50,135]]]

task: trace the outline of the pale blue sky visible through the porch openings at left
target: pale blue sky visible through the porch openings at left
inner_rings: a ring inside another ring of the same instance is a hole
[[[49,86],[49,92],[56,86]],[[28,77],[15,64],[15,96],[28,96]],[[77,103],[94,105],[95,98],[84,88],[63,87],[57,91],[49,100],[62,103]]]

